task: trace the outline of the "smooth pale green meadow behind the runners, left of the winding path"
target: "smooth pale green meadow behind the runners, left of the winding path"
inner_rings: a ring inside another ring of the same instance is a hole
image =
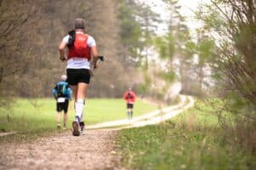
[[[125,108],[123,99],[87,99],[84,120],[88,125],[123,119],[126,118]],[[156,109],[157,105],[138,99],[135,103],[134,115],[143,115]],[[68,114],[67,124],[71,127],[74,117],[73,101],[69,105]],[[43,133],[56,133],[55,117],[55,99],[17,99],[11,110],[0,108],[0,131],[18,132],[17,139],[20,139],[20,135],[25,135],[26,139],[26,136],[37,137]],[[3,137],[0,137],[0,141],[1,139]]]

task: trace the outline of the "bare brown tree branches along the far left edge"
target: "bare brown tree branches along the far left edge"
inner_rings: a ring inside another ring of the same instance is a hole
[[[35,12],[31,1],[0,2],[0,106],[6,105],[4,101],[9,96],[17,94],[18,72],[29,65],[30,57],[27,51],[22,50],[22,44],[26,39],[26,27],[32,26],[35,21],[31,20]],[[22,54],[24,58],[20,57]]]

